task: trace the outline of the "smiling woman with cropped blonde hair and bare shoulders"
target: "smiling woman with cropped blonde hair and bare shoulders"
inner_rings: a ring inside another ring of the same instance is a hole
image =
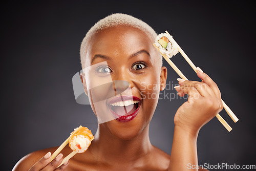
[[[86,153],[59,168],[63,156],[71,153],[68,146],[52,162],[57,147],[33,152],[13,170],[189,170],[188,164],[196,166],[197,136],[222,110],[220,91],[200,68],[197,75],[202,82],[178,79],[178,95],[189,98],[175,114],[172,153],[169,156],[152,145],[148,128],[167,77],[153,46],[156,36],[150,26],[125,14],[112,14],[95,24],[80,50],[84,91],[99,120],[95,140]],[[153,94],[156,98],[151,98]]]

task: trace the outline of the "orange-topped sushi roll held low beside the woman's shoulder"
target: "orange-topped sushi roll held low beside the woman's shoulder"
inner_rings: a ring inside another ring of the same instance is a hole
[[[87,127],[82,127],[77,133],[74,132],[71,133],[69,140],[70,148],[76,153],[87,151],[91,141],[94,139],[92,132]]]

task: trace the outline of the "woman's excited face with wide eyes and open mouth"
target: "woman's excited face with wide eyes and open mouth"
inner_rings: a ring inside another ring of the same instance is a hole
[[[167,71],[150,37],[116,26],[96,33],[87,51],[83,78],[100,126],[120,139],[139,135],[155,112]]]

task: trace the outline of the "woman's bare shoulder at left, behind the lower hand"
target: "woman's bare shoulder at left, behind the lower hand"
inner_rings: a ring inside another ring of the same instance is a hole
[[[40,158],[44,157],[48,152],[54,153],[57,147],[41,149],[36,152],[32,152],[22,159],[20,159],[15,166],[13,167],[12,171],[16,170],[29,170]]]

